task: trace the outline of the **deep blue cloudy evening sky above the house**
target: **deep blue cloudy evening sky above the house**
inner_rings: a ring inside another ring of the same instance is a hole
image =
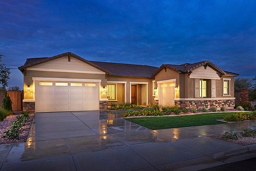
[[[26,58],[184,64],[256,75],[255,0],[1,0],[0,54],[23,89]]]

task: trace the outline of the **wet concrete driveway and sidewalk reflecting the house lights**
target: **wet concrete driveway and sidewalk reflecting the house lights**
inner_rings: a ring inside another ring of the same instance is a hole
[[[27,142],[0,145],[0,171],[193,171],[256,157],[255,145],[208,137],[254,122],[150,130],[122,112],[36,113]]]

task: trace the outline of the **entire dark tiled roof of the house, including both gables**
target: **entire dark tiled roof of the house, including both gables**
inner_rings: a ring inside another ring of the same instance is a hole
[[[211,65],[215,69],[217,69],[219,72],[223,73],[224,75],[239,75],[236,73],[231,73],[228,71],[223,71],[210,61],[202,61],[202,62],[197,62],[194,64],[181,64],[181,65],[173,65],[173,64],[163,64],[159,68],[158,67],[152,67],[148,65],[135,65],[135,64],[120,64],[120,63],[112,63],[112,62],[96,62],[96,61],[87,61],[80,56],[77,56],[75,54],[72,54],[70,52],[68,53],[63,53],[61,55],[56,55],[52,56],[50,58],[28,58],[25,62],[25,64],[19,69],[22,71],[22,69],[25,69],[26,67],[30,67],[32,65],[36,65],[42,62],[46,62],[48,60],[53,60],[55,58],[59,58],[65,55],[72,55],[75,58],[78,58],[79,60],[82,60],[86,62],[87,64],[90,64],[106,73],[108,73],[111,76],[135,76],[135,77],[148,77],[152,78],[154,77],[163,67],[167,67],[170,69],[173,69],[174,71],[177,72],[183,72],[183,73],[189,73],[190,71],[193,71],[194,69],[202,66],[202,65]]]

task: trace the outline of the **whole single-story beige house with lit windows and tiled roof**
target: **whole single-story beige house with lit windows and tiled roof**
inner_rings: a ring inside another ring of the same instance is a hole
[[[210,61],[160,67],[88,61],[67,52],[28,58],[24,110],[106,110],[111,103],[170,104],[182,108],[235,105],[234,77]]]

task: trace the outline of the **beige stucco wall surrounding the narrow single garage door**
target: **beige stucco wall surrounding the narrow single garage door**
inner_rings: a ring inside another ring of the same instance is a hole
[[[176,86],[178,86],[178,89],[176,91],[176,97],[175,98],[180,98],[180,92],[184,91],[185,87],[184,87],[184,78],[181,76],[181,80],[182,80],[182,84],[180,84],[180,75],[177,71],[174,71],[173,69],[162,69],[156,76],[156,83],[158,81],[163,81],[163,80],[171,80],[171,79],[176,79]],[[158,85],[156,84],[156,87]],[[159,89],[158,89],[159,91]],[[157,93],[156,93],[157,95]]]

